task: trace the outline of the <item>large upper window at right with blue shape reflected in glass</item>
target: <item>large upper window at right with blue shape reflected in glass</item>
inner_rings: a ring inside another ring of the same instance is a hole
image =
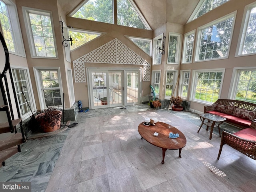
[[[196,61],[228,58],[234,14],[198,29]]]

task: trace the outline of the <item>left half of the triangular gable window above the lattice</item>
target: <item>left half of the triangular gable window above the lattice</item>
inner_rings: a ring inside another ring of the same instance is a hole
[[[88,0],[72,17],[113,24],[113,0]]]

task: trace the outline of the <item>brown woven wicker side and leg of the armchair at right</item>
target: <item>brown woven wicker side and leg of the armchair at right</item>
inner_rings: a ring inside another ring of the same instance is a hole
[[[220,158],[220,154],[224,144],[227,144],[230,147],[240,151],[242,154],[245,154],[246,156],[256,160],[256,141],[247,140],[232,133],[222,131],[218,159]]]

